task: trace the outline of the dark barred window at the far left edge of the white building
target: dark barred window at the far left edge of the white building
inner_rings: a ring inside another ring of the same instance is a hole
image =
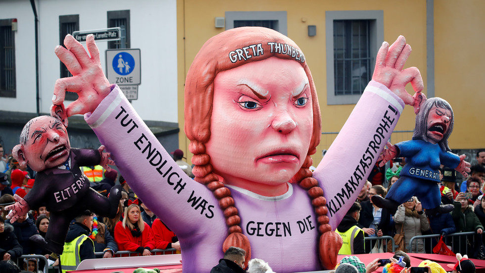
[[[15,33],[12,19],[0,20],[0,97],[16,97]]]

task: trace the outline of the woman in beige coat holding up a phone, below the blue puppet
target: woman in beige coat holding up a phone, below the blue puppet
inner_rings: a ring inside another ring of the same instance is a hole
[[[397,208],[394,222],[396,230],[400,231],[403,226],[402,232],[404,232],[406,247],[409,246],[412,237],[421,236],[423,231],[430,229],[430,222],[423,212],[423,206],[415,196]],[[423,240],[413,241],[411,252],[424,253]]]

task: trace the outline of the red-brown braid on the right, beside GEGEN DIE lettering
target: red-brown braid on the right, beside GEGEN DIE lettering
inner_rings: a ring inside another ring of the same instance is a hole
[[[312,172],[309,169],[312,164],[312,158],[310,155],[307,155],[300,170],[293,177],[293,181],[299,181],[300,187],[307,190],[311,198],[320,233],[318,242],[320,261],[326,269],[333,269],[337,265],[337,254],[342,246],[342,238],[339,234],[332,231],[332,226],[329,224],[328,209],[325,206],[327,200],[323,197],[323,189],[318,186],[317,179],[312,177]]]

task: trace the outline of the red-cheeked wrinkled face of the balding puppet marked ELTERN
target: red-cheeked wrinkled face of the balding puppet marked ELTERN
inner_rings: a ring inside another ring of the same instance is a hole
[[[63,164],[71,151],[66,127],[50,116],[36,118],[22,151],[27,164],[35,171]]]

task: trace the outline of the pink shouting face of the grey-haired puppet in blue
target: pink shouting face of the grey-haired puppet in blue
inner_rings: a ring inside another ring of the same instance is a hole
[[[443,139],[451,121],[451,111],[433,106],[428,113],[428,141],[436,144]]]

